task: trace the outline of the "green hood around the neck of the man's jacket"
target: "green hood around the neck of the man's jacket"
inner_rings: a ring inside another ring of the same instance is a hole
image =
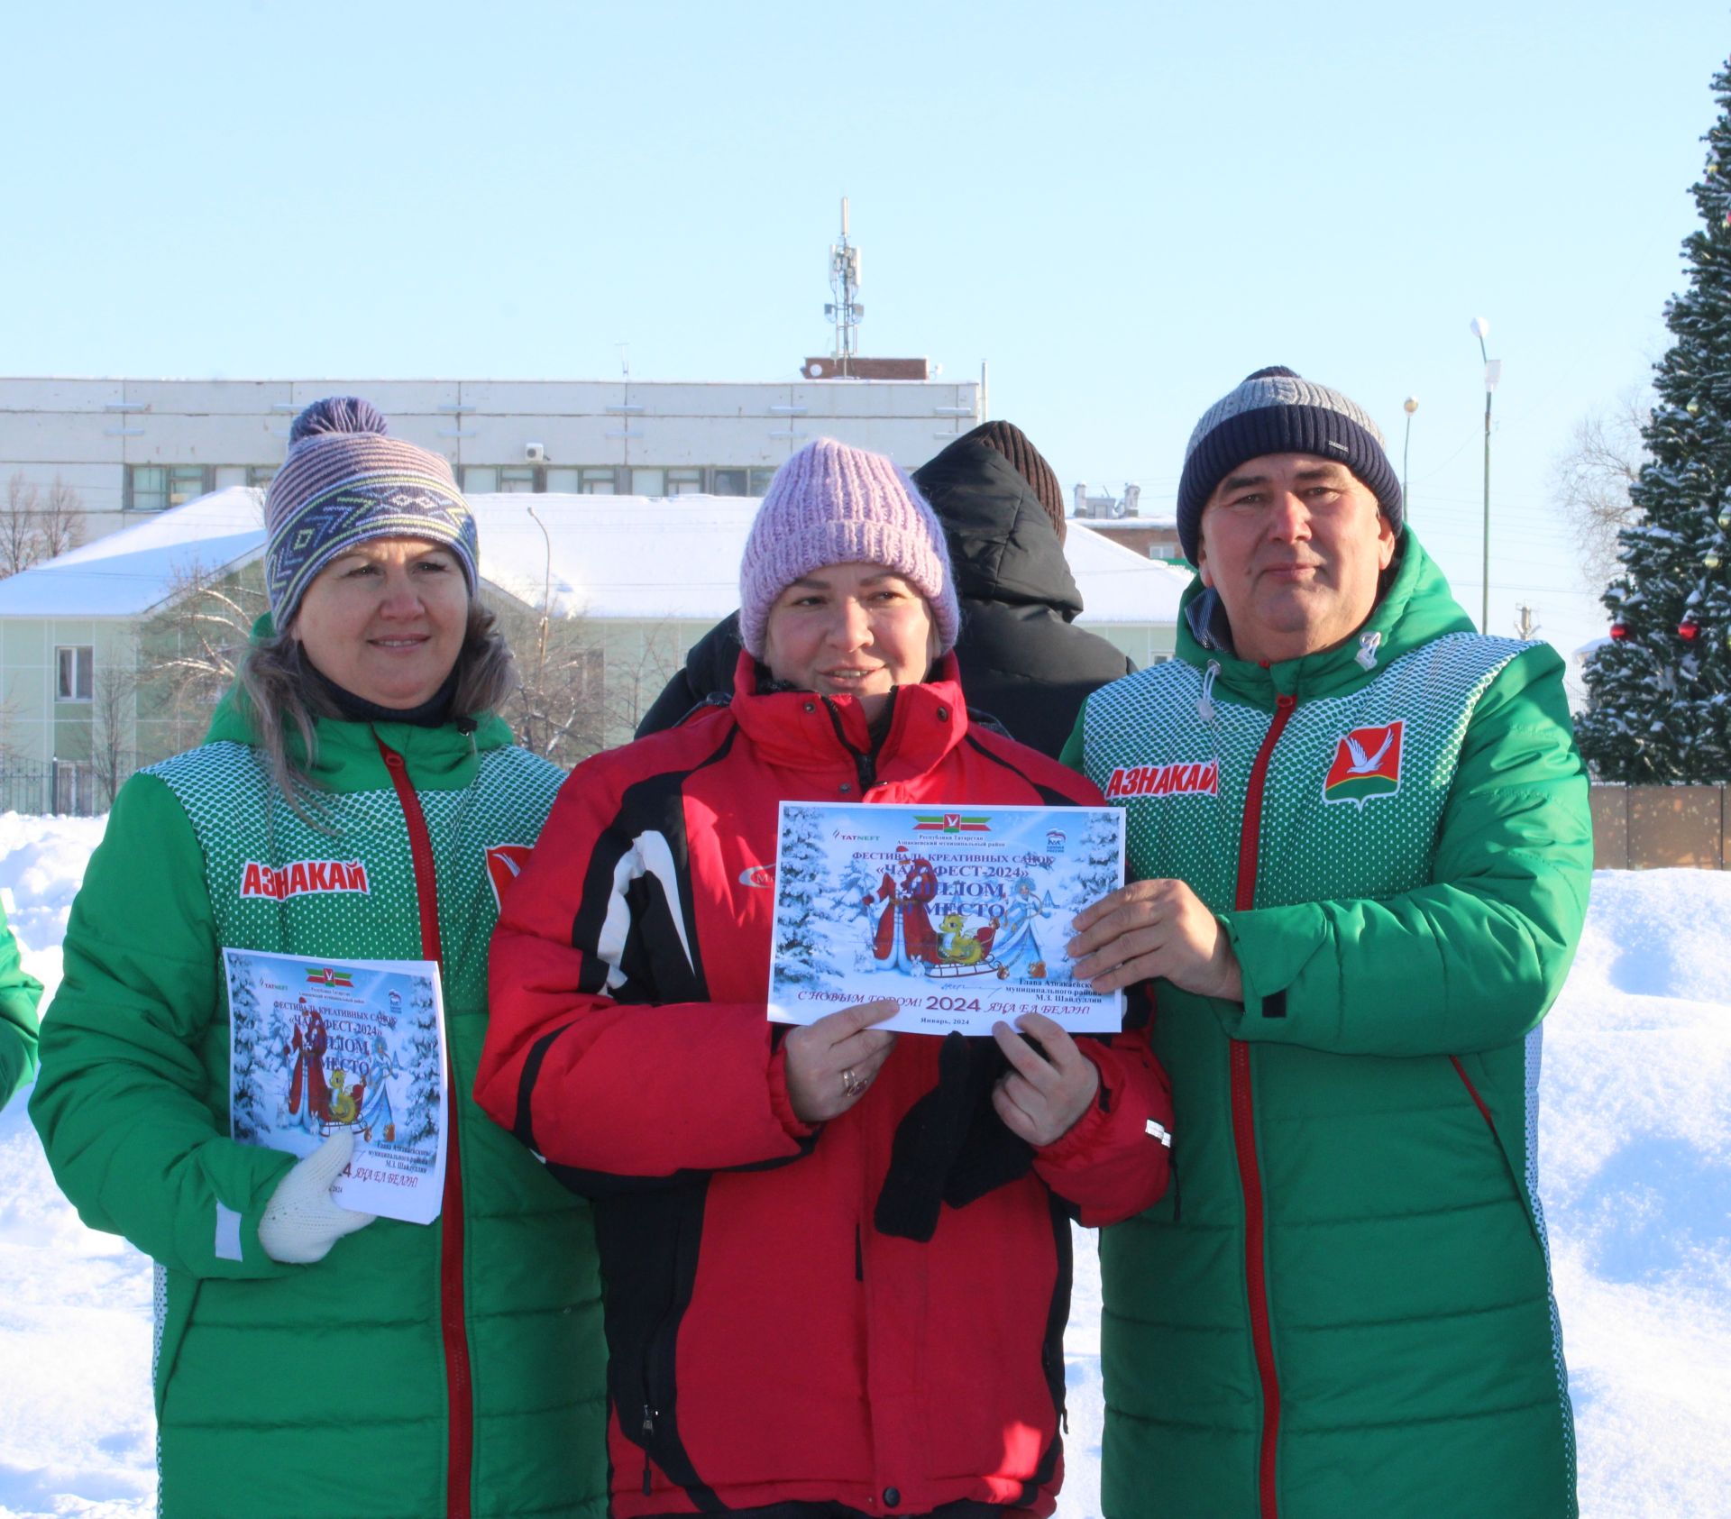
[[[1338,647],[1305,654],[1302,659],[1283,659],[1265,668],[1239,659],[1227,647],[1229,626],[1219,597],[1201,583],[1201,576],[1196,576],[1179,600],[1177,657],[1198,668],[1217,661],[1222,685],[1252,697],[1260,692],[1272,701],[1274,692],[1321,695],[1347,690],[1369,680],[1376,666],[1399,659],[1419,644],[1428,644],[1444,633],[1471,631],[1475,631],[1473,619],[1456,602],[1437,562],[1407,528],[1400,535],[1400,559],[1388,592],[1371,609],[1357,633]],[[1373,640],[1373,635],[1374,647],[1366,651],[1366,642]],[[1374,659],[1366,666],[1361,656]]]

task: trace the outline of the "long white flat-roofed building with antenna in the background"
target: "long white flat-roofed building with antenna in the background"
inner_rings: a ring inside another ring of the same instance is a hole
[[[860,360],[924,375],[923,360]],[[805,372],[829,374],[812,360]],[[232,484],[265,484],[310,401],[365,396],[466,491],[760,497],[831,436],[907,469],[983,419],[976,381],[0,379],[0,483],[71,486],[85,538]],[[3,497],[0,497],[3,507]]]

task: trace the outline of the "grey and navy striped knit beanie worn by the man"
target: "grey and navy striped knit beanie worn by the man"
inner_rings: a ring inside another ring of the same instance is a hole
[[[1314,453],[1345,464],[1400,535],[1400,479],[1388,462],[1381,431],[1340,391],[1300,379],[1276,363],[1258,369],[1215,401],[1191,433],[1179,479],[1179,543],[1191,564],[1196,562],[1201,509],[1213,488],[1245,460],[1264,453]]]

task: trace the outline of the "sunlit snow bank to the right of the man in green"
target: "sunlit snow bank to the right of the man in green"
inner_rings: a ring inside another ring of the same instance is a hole
[[[1541,1109],[1587,1519],[1728,1509],[1728,1003],[1731,875],[1601,870]]]

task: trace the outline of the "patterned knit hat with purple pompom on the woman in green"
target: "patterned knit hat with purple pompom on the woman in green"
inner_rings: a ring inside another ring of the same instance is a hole
[[[450,465],[388,438],[377,407],[358,396],[325,396],[294,419],[289,457],[265,491],[265,586],[279,631],[313,576],[369,538],[443,543],[474,595],[474,517]]]

